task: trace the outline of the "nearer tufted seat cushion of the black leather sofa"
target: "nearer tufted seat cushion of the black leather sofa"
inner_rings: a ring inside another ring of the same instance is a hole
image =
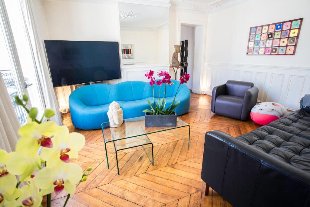
[[[262,126],[237,140],[310,173],[310,140],[270,126]]]

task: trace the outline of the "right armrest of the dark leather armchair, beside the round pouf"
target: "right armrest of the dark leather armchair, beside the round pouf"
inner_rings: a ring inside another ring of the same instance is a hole
[[[258,88],[256,88],[255,86],[246,90],[246,94],[244,95],[244,100],[242,104],[242,112],[240,118],[241,120],[246,120],[249,117],[251,109],[257,103],[257,97]]]

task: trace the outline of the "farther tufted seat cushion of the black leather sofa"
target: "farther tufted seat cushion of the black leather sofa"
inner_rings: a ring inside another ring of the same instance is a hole
[[[281,129],[299,137],[310,139],[310,113],[304,110],[296,110],[268,126]]]

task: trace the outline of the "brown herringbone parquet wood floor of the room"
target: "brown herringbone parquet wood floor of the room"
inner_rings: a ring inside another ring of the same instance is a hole
[[[240,121],[215,115],[210,111],[211,97],[191,94],[191,107],[187,114],[179,116],[191,126],[189,149],[170,131],[149,135],[154,144],[154,166],[140,147],[117,153],[120,175],[117,174],[114,146],[108,146],[110,169],[105,159],[101,130],[75,128],[70,115],[63,122],[70,132],[86,137],[85,147],[79,158],[71,160],[85,170],[92,167],[86,182],[80,183],[67,206],[231,206],[218,193],[209,190],[209,196],[201,194],[201,164],[205,133],[221,130],[234,137],[250,132],[259,125],[252,121]],[[188,128],[175,129],[183,141]],[[52,195],[52,205],[62,206],[65,191]]]

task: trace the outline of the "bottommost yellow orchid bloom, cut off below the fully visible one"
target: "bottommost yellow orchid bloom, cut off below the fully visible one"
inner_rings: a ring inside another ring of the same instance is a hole
[[[20,197],[12,202],[12,206],[31,206],[31,207],[39,207],[42,202],[42,193],[40,193],[38,187],[31,182],[30,185],[25,185],[21,189]]]

